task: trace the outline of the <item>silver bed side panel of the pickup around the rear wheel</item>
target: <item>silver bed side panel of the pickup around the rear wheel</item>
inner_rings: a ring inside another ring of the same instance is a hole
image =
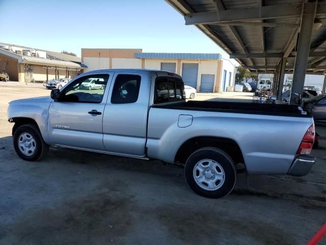
[[[178,127],[181,114],[193,115],[191,126]],[[312,124],[310,117],[151,108],[147,154],[173,163],[186,140],[197,136],[225,137],[238,143],[248,173],[286,174]]]

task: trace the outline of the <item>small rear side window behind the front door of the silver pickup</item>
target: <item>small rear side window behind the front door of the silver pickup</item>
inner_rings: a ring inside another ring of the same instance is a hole
[[[138,100],[141,76],[124,75],[117,76],[112,90],[112,104],[135,103]]]

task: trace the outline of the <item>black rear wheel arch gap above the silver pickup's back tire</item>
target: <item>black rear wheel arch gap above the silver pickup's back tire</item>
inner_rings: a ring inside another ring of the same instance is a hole
[[[232,158],[235,164],[245,164],[240,146],[235,140],[215,136],[197,136],[186,140],[179,147],[174,162],[185,163],[192,153],[203,147],[219,148],[225,151]]]

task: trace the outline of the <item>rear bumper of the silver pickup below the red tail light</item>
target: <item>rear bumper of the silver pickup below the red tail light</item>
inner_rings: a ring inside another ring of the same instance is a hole
[[[288,175],[292,176],[305,176],[308,175],[312,166],[315,164],[316,158],[311,156],[297,156],[289,171]]]

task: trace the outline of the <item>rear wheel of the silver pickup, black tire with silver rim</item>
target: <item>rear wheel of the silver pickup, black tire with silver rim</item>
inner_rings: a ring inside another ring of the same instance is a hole
[[[206,198],[223,198],[236,183],[232,158],[221,149],[212,147],[201,148],[190,155],[184,175],[189,187]]]

